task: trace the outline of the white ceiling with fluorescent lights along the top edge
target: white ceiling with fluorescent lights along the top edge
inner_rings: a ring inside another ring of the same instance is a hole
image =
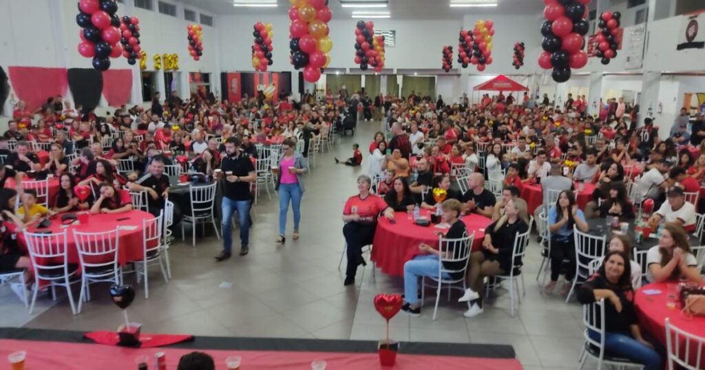
[[[178,0],[185,4],[198,6],[216,14],[287,14],[289,0],[278,0],[276,8],[235,8],[231,0]],[[389,0],[388,10],[392,19],[462,19],[465,14],[493,14],[506,13],[537,13],[544,8],[541,0],[498,0],[496,8],[450,8],[449,0]],[[329,6],[333,11],[333,19],[350,19],[351,8],[342,8],[339,0],[330,0]],[[357,9],[362,10],[362,9]],[[384,8],[374,8],[380,11]]]

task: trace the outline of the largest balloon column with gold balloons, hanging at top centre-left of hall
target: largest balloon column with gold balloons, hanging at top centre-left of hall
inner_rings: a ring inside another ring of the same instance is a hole
[[[317,82],[331,61],[333,41],[328,22],[333,18],[327,0],[290,0],[289,43],[291,64],[303,68],[304,79]]]

